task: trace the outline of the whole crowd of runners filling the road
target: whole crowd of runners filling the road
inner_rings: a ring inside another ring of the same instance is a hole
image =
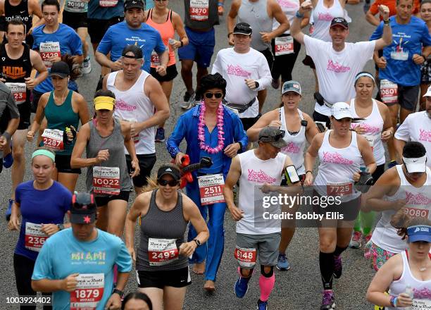
[[[168,0],[0,0],[0,172],[11,169],[18,295],[42,292],[44,309],[182,309],[189,265],[215,291],[227,209],[235,295],[258,267],[256,309],[270,309],[274,269],[291,268],[294,215],[310,206],[268,209],[283,195],[337,202],[308,209],[320,310],[335,309],[348,247],[376,271],[369,302],[430,309],[431,0],[366,0],[375,31],[356,43],[346,42],[356,0],[181,2],[184,20]],[[223,14],[232,47],[213,55]],[[316,77],[312,115],[292,77],[301,45]],[[176,52],[183,113],[165,132]],[[76,80],[93,57],[101,76],[87,104]],[[375,74],[363,70],[371,59]],[[280,106],[262,114],[280,85]],[[154,171],[156,142],[172,162]],[[75,192],[82,168],[86,192]],[[137,288],[126,296],[127,281]]]

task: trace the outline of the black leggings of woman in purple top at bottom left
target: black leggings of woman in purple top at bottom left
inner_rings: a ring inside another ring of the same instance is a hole
[[[13,254],[13,270],[15,271],[16,290],[18,295],[35,295],[36,292],[32,289],[32,274],[35,268],[35,261],[27,259],[25,256]],[[51,293],[42,293],[44,296],[51,296]],[[52,302],[52,299],[51,299]],[[35,306],[20,306],[21,310],[33,310]],[[44,310],[51,310],[52,306],[44,306]]]

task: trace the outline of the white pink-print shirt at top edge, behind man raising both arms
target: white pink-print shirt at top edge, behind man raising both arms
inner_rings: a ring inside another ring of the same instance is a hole
[[[323,5],[323,0],[318,0],[316,8],[313,8],[311,18],[313,20],[313,32],[311,37],[320,39],[325,42],[332,42],[329,35],[329,29],[332,18],[344,17],[344,9],[338,0],[334,0],[334,4],[330,8]]]

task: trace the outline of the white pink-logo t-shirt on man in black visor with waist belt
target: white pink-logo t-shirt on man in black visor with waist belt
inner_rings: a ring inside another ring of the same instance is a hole
[[[227,82],[225,100],[232,104],[248,104],[256,98],[258,90],[266,89],[273,79],[265,56],[256,49],[250,48],[245,54],[237,53],[233,47],[218,51],[211,74],[220,73]],[[256,89],[249,89],[244,80],[252,79],[259,83]],[[240,118],[258,116],[258,100],[239,113]]]

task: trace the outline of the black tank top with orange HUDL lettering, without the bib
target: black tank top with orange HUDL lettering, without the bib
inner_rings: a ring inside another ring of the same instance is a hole
[[[23,46],[23,55],[18,59],[11,59],[6,53],[6,43],[0,45],[0,72],[6,79],[6,83],[23,83],[25,82],[25,77],[30,77],[32,74],[30,48],[24,43]],[[26,94],[25,102],[30,102],[29,89],[27,89]]]

